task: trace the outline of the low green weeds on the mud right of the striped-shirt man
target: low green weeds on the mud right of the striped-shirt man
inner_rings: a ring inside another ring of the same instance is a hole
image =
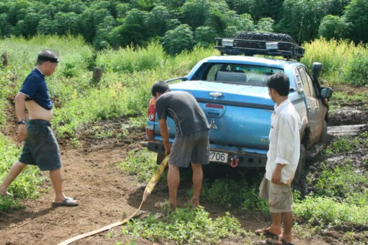
[[[342,155],[340,162],[322,163],[319,172],[309,173],[309,185],[315,192],[297,198],[294,214],[309,225],[326,228],[334,225],[368,226],[368,174],[365,161],[350,159],[357,149],[367,151],[368,134],[335,139],[325,150],[328,157]]]

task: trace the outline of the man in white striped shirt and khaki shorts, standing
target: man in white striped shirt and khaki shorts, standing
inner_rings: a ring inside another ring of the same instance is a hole
[[[268,94],[276,102],[271,116],[269,149],[266,173],[260,185],[260,196],[268,200],[272,225],[259,229],[257,234],[276,238],[273,244],[292,244],[292,192],[294,178],[300,156],[300,118],[289,100],[289,78],[284,73],[276,73],[267,80]],[[284,231],[281,227],[284,222]]]

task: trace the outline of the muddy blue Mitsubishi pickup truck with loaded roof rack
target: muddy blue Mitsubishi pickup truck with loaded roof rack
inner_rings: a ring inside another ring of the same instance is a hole
[[[242,42],[250,43],[248,46],[256,43],[259,50],[247,48],[247,44]],[[166,81],[173,91],[191,93],[205,112],[210,124],[210,162],[228,164],[234,168],[265,166],[270,118],[274,109],[274,102],[268,96],[266,80],[274,73],[282,72],[289,77],[289,98],[302,121],[301,157],[296,178],[304,168],[305,149],[325,140],[327,100],[331,97],[332,90],[320,86],[318,72],[322,65],[315,63],[311,74],[305,65],[290,60],[299,59],[304,50],[295,43],[291,43],[291,48],[285,48],[285,43],[290,42],[272,38],[219,38],[215,48],[223,55],[205,58],[186,76]],[[281,55],[286,59],[253,57],[254,54]],[[171,119],[167,123],[172,143],[175,123]],[[164,156],[164,147],[154,98],[148,107],[146,133],[149,141],[142,145],[157,152],[160,163]]]

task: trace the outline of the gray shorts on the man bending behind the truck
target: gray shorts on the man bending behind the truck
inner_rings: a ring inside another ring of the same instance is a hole
[[[176,136],[170,150],[169,164],[187,168],[189,163],[208,164],[210,161],[210,129]]]

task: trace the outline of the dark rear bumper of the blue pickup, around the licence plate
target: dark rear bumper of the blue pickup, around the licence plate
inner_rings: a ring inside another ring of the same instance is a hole
[[[160,141],[144,141],[141,142],[143,147],[147,147],[148,150],[157,152],[159,154],[165,153],[165,147]],[[238,159],[238,167],[244,168],[264,168],[267,162],[267,150],[254,149],[247,147],[230,147],[210,144],[210,150],[229,153],[227,165],[230,165],[232,158]],[[219,162],[213,162],[219,163]],[[219,163],[225,164],[225,163]]]

